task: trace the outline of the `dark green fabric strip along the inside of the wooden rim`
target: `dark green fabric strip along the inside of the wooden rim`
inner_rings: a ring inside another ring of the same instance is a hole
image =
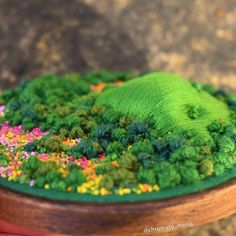
[[[128,194],[124,196],[109,195],[109,196],[93,196],[91,194],[67,193],[58,190],[45,190],[41,188],[31,188],[28,185],[21,185],[15,182],[7,181],[0,178],[0,186],[8,188],[15,192],[24,193],[30,196],[42,197],[51,200],[62,200],[69,202],[93,202],[93,203],[111,203],[111,202],[138,202],[152,201],[165,198],[177,197],[181,195],[201,192],[230,180],[236,179],[236,166],[225,171],[221,176],[210,177],[205,181],[193,185],[180,185],[175,188],[164,189],[159,192]]]

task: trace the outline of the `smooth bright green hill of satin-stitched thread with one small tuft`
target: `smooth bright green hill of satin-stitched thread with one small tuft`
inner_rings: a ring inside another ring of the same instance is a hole
[[[104,91],[99,105],[123,114],[154,119],[161,133],[195,129],[206,132],[214,120],[228,120],[228,107],[189,81],[171,73],[156,72]]]

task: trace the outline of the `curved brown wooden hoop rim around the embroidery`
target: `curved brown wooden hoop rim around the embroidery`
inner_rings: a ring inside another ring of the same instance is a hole
[[[0,218],[33,230],[69,235],[142,235],[145,229],[164,233],[235,214],[235,196],[236,181],[172,199],[112,204],[51,201],[0,188]]]

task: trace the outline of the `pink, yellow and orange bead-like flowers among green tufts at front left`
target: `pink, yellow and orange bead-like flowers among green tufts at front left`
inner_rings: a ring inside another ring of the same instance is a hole
[[[4,111],[4,109],[2,110]],[[93,195],[109,195],[111,192],[106,188],[99,187],[102,179],[102,175],[97,175],[95,168],[98,165],[97,162],[88,160],[87,157],[76,159],[74,156],[66,156],[65,153],[37,153],[37,152],[26,152],[23,147],[38,139],[40,140],[43,136],[47,135],[48,132],[43,132],[40,128],[34,128],[30,132],[23,131],[22,126],[10,126],[8,122],[0,125],[0,153],[5,153],[6,162],[5,165],[0,166],[0,177],[6,178],[9,181],[16,181],[17,178],[24,175],[24,171],[20,170],[22,165],[29,158],[38,158],[40,161],[49,162],[52,161],[58,165],[58,172],[62,176],[66,177],[69,173],[69,166],[73,163],[83,170],[83,173],[87,177],[87,181],[76,188],[78,193],[91,193]],[[81,142],[81,139],[67,139],[64,144],[68,147]],[[105,160],[104,155],[100,155],[99,162],[102,163]],[[112,164],[118,167],[118,163],[113,161]],[[29,180],[29,186],[35,185],[35,180]],[[50,189],[50,184],[44,184],[45,189]],[[158,191],[158,185],[139,184],[136,187],[130,188],[119,188],[115,191],[118,195],[130,194],[135,192],[141,194],[142,192]],[[66,191],[70,192],[71,187],[68,186]]]

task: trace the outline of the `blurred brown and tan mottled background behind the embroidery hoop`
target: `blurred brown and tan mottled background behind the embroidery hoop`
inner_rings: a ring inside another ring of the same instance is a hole
[[[42,72],[162,70],[236,90],[235,0],[0,0],[0,89]],[[236,216],[178,235],[236,235]]]

